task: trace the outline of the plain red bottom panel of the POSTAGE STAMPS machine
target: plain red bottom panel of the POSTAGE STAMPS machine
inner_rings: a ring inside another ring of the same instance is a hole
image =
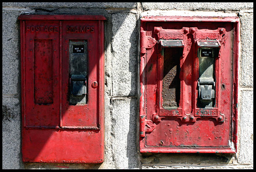
[[[99,130],[25,129],[23,160],[47,163],[100,163]]]

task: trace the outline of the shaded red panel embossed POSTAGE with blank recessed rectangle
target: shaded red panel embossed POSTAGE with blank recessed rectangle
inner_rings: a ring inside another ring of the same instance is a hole
[[[59,125],[58,32],[58,21],[25,21],[26,127]]]

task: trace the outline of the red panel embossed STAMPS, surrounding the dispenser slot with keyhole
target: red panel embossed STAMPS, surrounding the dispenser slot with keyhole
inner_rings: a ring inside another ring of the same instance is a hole
[[[90,31],[80,32],[80,28],[90,27]],[[74,27],[73,32],[67,30],[67,28]],[[75,28],[79,28],[76,31]],[[98,21],[63,21],[62,22],[62,97],[67,97],[69,95],[68,84],[69,84],[69,40],[87,40],[87,50],[88,50],[88,101],[84,105],[70,106],[69,100],[66,98],[62,99],[62,127],[91,127],[97,128],[99,124],[99,108],[97,107],[97,100],[99,96],[99,87],[92,88],[91,84],[94,81],[99,80],[98,74],[98,63],[100,57],[100,50],[97,49],[100,42],[100,26]],[[91,30],[93,28],[93,30]],[[93,57],[93,58],[90,58]],[[97,118],[96,118],[97,117]]]

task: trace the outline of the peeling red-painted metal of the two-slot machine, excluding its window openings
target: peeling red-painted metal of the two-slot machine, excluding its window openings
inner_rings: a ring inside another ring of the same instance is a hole
[[[238,17],[150,16],[141,19],[141,31],[147,33],[147,36],[158,42],[160,39],[183,40],[184,51],[180,57],[180,103],[179,107],[172,109],[162,106],[161,45],[158,43],[141,51],[141,56],[147,56],[146,61],[140,62],[140,78],[147,79],[143,82],[141,80],[140,83],[145,85],[143,94],[146,97],[144,100],[140,99],[140,116],[145,116],[145,119],[153,122],[156,122],[153,116],[160,116],[161,120],[156,123],[156,128],[152,132],[140,135],[140,152],[236,152],[237,142],[233,140],[237,137],[230,135],[230,132],[237,130],[237,122],[231,120],[233,116],[237,116],[237,110],[234,113],[231,107],[234,107],[232,100],[237,101],[238,93],[235,84],[238,81],[238,72],[235,69],[238,64],[238,53],[234,56],[233,52],[238,52],[238,45],[234,43],[239,37],[237,32],[234,35],[232,32],[233,29],[237,30],[238,22]],[[210,109],[199,108],[197,105],[197,41],[204,38],[216,40],[220,47],[219,57],[215,58],[214,64],[216,104]],[[233,52],[230,51],[232,46]],[[150,73],[145,73],[144,70],[148,71],[149,66],[152,66]],[[235,79],[232,80],[232,77]],[[221,88],[222,84],[225,88]],[[153,91],[154,89],[157,91]],[[142,104],[145,108],[142,108]],[[231,128],[231,123],[235,125],[234,128]],[[175,132],[173,126],[176,128]],[[143,130],[143,125],[140,125],[140,128]],[[235,142],[234,148],[230,145],[231,140]]]

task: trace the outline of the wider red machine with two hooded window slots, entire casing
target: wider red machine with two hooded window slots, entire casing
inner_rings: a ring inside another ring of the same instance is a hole
[[[140,152],[234,153],[238,19],[141,20]]]

